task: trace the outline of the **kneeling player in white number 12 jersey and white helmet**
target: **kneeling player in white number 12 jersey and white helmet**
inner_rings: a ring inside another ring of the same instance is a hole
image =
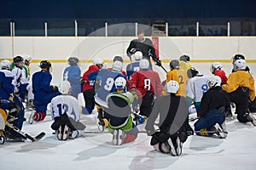
[[[75,139],[84,132],[85,125],[79,122],[80,108],[79,102],[71,93],[71,86],[68,81],[61,82],[61,95],[51,100],[51,115],[55,122],[51,128],[59,140]]]

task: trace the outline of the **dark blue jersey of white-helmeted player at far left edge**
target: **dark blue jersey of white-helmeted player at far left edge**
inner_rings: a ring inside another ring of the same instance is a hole
[[[0,71],[0,98],[9,99],[10,94],[15,91],[15,86],[12,84],[14,77],[11,71]]]

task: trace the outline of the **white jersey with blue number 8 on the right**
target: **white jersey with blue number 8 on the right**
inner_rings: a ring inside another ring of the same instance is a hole
[[[202,95],[208,90],[208,78],[203,75],[190,78],[187,85],[187,98],[193,100],[195,103],[201,102]]]

